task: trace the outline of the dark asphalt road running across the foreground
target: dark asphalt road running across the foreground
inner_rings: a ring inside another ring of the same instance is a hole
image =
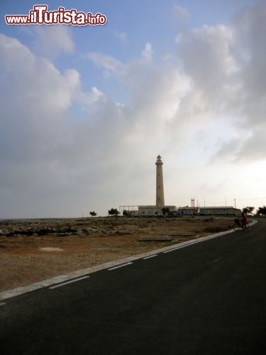
[[[0,354],[266,354],[266,221],[0,306]]]

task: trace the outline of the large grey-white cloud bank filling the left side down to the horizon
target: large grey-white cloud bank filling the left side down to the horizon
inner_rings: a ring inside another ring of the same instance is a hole
[[[82,182],[89,163],[81,163],[88,153],[84,148],[93,151],[95,143],[86,141],[92,134],[89,125],[81,128],[69,110],[75,101],[93,105],[102,95],[95,87],[82,92],[77,70],[60,72],[15,38],[0,35],[0,47],[5,87],[0,98],[0,214],[56,215],[72,195],[72,184]],[[74,191],[80,200],[82,191]]]

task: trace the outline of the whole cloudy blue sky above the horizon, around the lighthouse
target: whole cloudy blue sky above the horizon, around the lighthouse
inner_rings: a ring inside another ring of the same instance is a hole
[[[39,4],[39,3],[37,3]],[[7,25],[0,4],[0,219],[155,204],[266,204],[266,1],[46,1],[99,26]]]

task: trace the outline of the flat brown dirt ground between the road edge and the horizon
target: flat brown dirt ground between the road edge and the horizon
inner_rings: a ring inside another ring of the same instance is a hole
[[[233,217],[0,221],[0,291],[225,231],[232,226]],[[171,236],[171,241],[140,240],[160,236]]]

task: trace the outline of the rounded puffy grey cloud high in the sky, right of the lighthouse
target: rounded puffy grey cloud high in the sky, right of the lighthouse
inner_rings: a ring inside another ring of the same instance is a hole
[[[238,70],[231,53],[233,34],[225,26],[203,26],[178,36],[178,58],[197,89],[213,101],[226,95]]]

